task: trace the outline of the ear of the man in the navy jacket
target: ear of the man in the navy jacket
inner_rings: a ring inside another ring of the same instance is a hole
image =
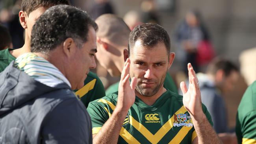
[[[67,57],[72,57],[76,53],[76,44],[72,38],[67,38],[63,42],[63,52]]]

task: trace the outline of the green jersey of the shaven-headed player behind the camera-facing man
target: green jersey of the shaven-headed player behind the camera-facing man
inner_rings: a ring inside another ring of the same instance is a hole
[[[119,82],[114,83],[113,85],[109,86],[109,88],[106,90],[106,95],[117,92],[118,91],[118,85],[119,85]],[[178,89],[177,89],[177,87],[176,87],[176,85],[173,81],[173,78],[170,76],[169,73],[167,73],[166,76],[165,76],[165,81],[163,82],[163,87],[165,89],[171,90],[172,92],[178,93]]]

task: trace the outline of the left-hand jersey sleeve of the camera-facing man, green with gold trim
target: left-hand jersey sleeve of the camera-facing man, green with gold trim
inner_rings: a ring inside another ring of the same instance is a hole
[[[90,102],[87,111],[91,117],[93,135],[97,134],[109,118],[108,108],[98,102]]]

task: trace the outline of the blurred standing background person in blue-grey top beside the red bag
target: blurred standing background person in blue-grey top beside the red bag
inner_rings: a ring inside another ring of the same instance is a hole
[[[178,46],[177,58],[184,65],[183,72],[186,73],[187,63],[191,63],[195,72],[199,72],[198,46],[202,41],[209,42],[210,37],[198,11],[193,10],[186,14],[185,20],[176,30],[175,38]]]

